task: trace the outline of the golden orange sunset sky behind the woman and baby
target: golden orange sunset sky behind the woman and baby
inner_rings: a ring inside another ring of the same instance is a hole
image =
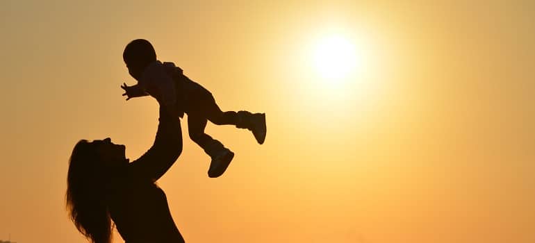
[[[186,242],[535,242],[535,1],[3,0],[0,31],[0,240],[85,242],[68,159],[151,146],[156,101],[120,89],[145,38],[267,116],[263,145],[208,124],[215,179],[182,122],[158,185]]]

